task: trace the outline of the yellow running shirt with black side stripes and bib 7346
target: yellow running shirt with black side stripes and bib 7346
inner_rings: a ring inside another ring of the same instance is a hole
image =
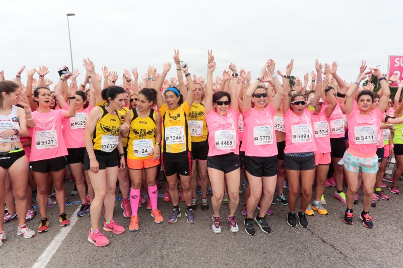
[[[163,103],[158,111],[162,118],[162,152],[179,153],[191,150],[190,131],[187,116],[190,107],[186,102],[175,110],[169,110]]]

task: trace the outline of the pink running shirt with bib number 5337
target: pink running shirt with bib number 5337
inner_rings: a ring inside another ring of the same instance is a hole
[[[49,113],[32,112],[35,127],[32,134],[30,161],[51,159],[68,154],[61,129],[65,120],[65,112],[63,109],[50,110]]]

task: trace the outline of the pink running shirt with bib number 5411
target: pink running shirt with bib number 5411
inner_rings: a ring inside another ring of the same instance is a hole
[[[358,153],[376,153],[376,139],[383,113],[379,109],[372,110],[369,115],[361,115],[360,111],[352,111],[347,116],[349,125],[349,147]]]

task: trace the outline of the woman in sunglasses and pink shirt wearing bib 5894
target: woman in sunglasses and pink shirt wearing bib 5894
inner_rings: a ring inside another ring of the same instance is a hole
[[[286,75],[284,76],[284,98],[288,98],[288,87],[290,83],[290,74],[293,68],[294,60],[287,65]],[[318,60],[315,61],[317,72],[317,88],[322,88],[322,65]],[[315,154],[316,144],[313,138],[312,115],[315,112],[321,90],[315,91],[315,94],[308,106],[306,100],[300,93],[294,94],[291,101],[283,102],[284,125],[286,130],[286,148],[284,149],[284,167],[286,168],[289,185],[289,204],[287,223],[290,226],[297,226],[295,207],[299,195],[299,180],[301,177],[302,198],[298,211],[299,225],[308,227],[305,210],[312,198],[312,185],[315,179]]]

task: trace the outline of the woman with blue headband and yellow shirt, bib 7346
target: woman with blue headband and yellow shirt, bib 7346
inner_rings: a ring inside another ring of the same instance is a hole
[[[182,71],[189,84],[189,92],[186,99],[180,94],[178,88],[171,86],[161,94],[162,83],[171,68],[170,63],[164,64],[164,70],[156,84],[158,112],[162,118],[162,154],[161,161],[167,178],[169,195],[171,197],[173,210],[168,220],[175,223],[178,217],[182,216],[179,208],[178,174],[183,189],[186,204],[186,221],[194,223],[196,219],[193,215],[192,193],[190,187],[191,174],[191,140],[190,131],[187,124],[190,108],[194,99],[194,83],[188,71],[188,66],[184,64]]]

